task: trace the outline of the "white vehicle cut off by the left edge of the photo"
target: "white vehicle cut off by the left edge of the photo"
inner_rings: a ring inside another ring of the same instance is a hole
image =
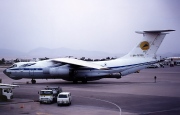
[[[12,99],[13,98],[12,89],[14,87],[19,87],[19,86],[18,85],[0,83],[0,97],[1,97],[2,101],[6,101],[7,99]]]

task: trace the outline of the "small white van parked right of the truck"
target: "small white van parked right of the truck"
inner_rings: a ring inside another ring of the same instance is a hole
[[[61,92],[57,96],[57,105],[68,104],[71,105],[72,97],[70,92]]]

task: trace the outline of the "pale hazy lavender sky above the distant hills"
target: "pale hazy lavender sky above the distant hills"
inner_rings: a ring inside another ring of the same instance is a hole
[[[180,53],[180,0],[0,0],[0,48],[128,53],[136,30],[175,29],[159,53]]]

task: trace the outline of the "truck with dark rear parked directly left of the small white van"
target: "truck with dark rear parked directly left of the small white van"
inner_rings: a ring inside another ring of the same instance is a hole
[[[60,87],[46,87],[39,92],[40,103],[53,103],[57,101],[57,95],[62,92]]]

